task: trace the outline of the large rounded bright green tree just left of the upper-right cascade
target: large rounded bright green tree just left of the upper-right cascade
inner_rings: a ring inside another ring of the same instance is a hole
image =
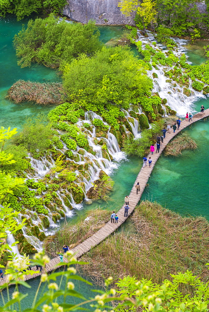
[[[119,108],[127,109],[130,103],[138,104],[142,96],[151,95],[152,81],[144,66],[128,47],[103,47],[92,58],[83,55],[67,64],[63,87],[69,102],[100,111],[118,129],[116,118],[123,115]]]

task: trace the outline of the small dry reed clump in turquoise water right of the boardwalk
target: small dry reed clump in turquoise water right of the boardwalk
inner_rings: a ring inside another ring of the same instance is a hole
[[[181,134],[172,142],[168,143],[165,148],[165,156],[178,156],[182,154],[181,151],[184,149],[197,149],[196,142],[188,135]]]

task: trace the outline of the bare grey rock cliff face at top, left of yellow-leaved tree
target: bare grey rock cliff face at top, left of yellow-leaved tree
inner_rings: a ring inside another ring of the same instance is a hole
[[[124,25],[134,24],[133,18],[126,17],[118,7],[119,0],[67,0],[68,5],[63,9],[63,14],[74,21],[87,23],[90,19],[96,24]]]

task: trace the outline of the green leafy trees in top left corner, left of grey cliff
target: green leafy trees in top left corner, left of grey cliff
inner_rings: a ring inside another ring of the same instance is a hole
[[[66,0],[0,0],[0,16],[13,13],[19,21],[33,12],[59,12],[59,9],[66,4]]]

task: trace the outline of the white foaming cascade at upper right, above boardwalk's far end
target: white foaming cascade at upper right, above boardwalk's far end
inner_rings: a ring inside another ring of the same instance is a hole
[[[154,36],[148,32],[149,36],[145,38],[142,36],[139,32],[137,33],[139,36],[139,39],[137,41],[142,42],[142,48],[145,49],[145,45],[149,44],[152,46],[153,49],[160,49],[161,52],[165,53],[168,50],[162,50],[163,45],[157,44],[157,46],[153,45],[153,41],[156,42],[156,39]],[[188,40],[185,39],[179,39],[179,38],[172,38],[176,44],[177,49],[173,51],[174,55],[177,57],[181,57],[184,52],[187,51],[187,49],[184,47],[185,44],[187,44]],[[186,55],[187,56],[187,55]],[[150,62],[151,63],[151,62]],[[188,62],[190,63],[190,62]],[[190,85],[188,89],[191,91],[191,95],[187,96],[183,93],[185,87],[181,87],[176,81],[172,80],[171,83],[166,82],[166,80],[169,79],[169,77],[164,75],[164,71],[169,71],[174,66],[162,66],[157,65],[157,70],[152,66],[152,71],[147,71],[148,76],[150,76],[153,79],[152,74],[156,73],[158,78],[154,78],[153,80],[153,92],[158,92],[160,97],[163,99],[167,99],[167,105],[171,107],[172,110],[176,110],[177,115],[180,117],[185,117],[187,112],[196,112],[194,110],[194,102],[197,101],[199,98],[205,98],[205,96],[201,92],[198,92],[192,88],[192,80],[190,79]],[[174,84],[176,86],[174,87]],[[186,89],[185,89],[186,91]],[[169,92],[169,93],[168,93]]]

